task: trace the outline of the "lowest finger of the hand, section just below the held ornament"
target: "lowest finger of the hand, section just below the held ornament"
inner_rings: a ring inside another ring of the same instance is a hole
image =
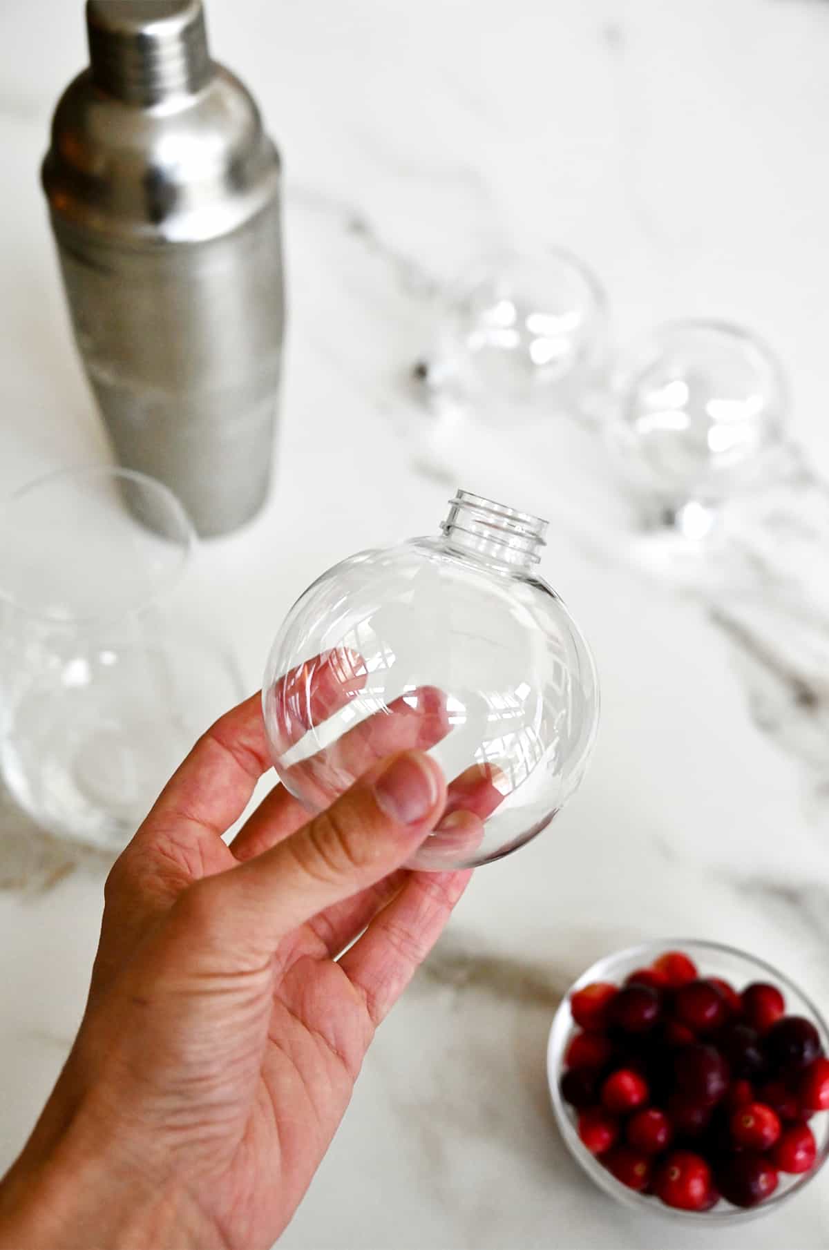
[[[339,964],[376,1026],[424,961],[466,889],[469,869],[413,872]]]

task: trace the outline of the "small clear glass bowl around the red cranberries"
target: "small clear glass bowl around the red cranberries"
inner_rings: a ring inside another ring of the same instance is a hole
[[[713,941],[671,938],[665,941],[643,942],[640,946],[629,946],[615,955],[606,955],[604,959],[598,960],[573,982],[561,1000],[553,1018],[546,1048],[546,1074],[550,1085],[550,1098],[553,1099],[553,1110],[555,1111],[559,1131],[573,1158],[596,1185],[611,1198],[615,1198],[616,1201],[624,1202],[625,1206],[634,1208],[635,1210],[646,1211],[650,1215],[683,1220],[685,1224],[730,1228],[734,1224],[756,1219],[766,1211],[775,1211],[781,1202],[799,1194],[816,1176],[826,1161],[826,1155],[829,1155],[829,1114],[819,1112],[809,1121],[809,1128],[814,1132],[818,1146],[814,1166],[810,1171],[803,1172],[799,1176],[780,1172],[778,1188],[771,1198],[750,1208],[730,1206],[724,1199],[720,1199],[710,1211],[680,1211],[676,1208],[660,1202],[654,1195],[636,1194],[635,1190],[628,1189],[626,1185],[618,1181],[583,1144],[576,1131],[575,1112],[565,1104],[559,1091],[559,1081],[565,1070],[564,1052],[570,1038],[576,1031],[576,1025],[570,1012],[570,996],[574,991],[590,985],[593,981],[610,981],[614,985],[621,985],[630,972],[636,971],[639,968],[649,968],[654,960],[669,950],[681,950],[689,955],[696,964],[700,976],[723,978],[730,981],[736,990],[741,990],[749,981],[770,981],[773,985],[778,985],[785,996],[786,1015],[803,1015],[811,1020],[820,1034],[824,1050],[829,1054],[829,1026],[826,1021],[814,1002],[788,976],[779,972],[776,968],[771,968],[770,964],[765,964],[761,959],[755,959],[754,955],[746,955],[741,950],[734,950],[731,946],[721,946],[719,942]]]

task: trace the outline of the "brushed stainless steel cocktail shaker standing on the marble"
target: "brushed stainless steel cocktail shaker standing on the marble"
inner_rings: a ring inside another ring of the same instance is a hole
[[[78,346],[121,464],[226,532],[270,479],[279,156],[201,0],[88,0],[86,25],[43,168]]]

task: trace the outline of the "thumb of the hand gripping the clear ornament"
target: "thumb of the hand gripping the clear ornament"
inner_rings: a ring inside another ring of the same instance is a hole
[[[400,868],[446,802],[440,766],[423,751],[381,760],[326,811],[256,859],[204,884],[216,889],[228,938],[271,952],[298,925]],[[240,929],[240,922],[244,929]]]

